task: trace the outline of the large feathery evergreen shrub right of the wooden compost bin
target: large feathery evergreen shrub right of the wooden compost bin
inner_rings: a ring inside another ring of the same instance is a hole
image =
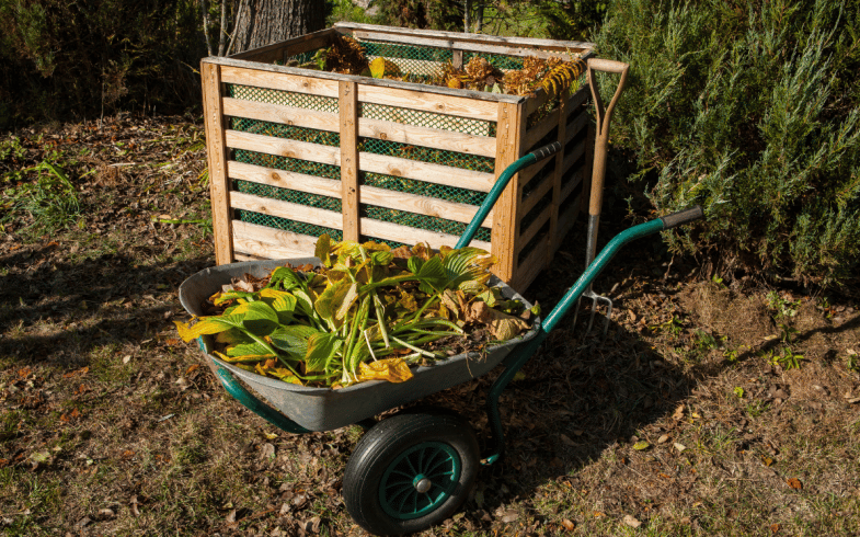
[[[635,156],[632,180],[661,214],[706,209],[673,251],[711,247],[724,273],[856,281],[856,0],[615,0],[595,41],[631,65],[612,138]]]

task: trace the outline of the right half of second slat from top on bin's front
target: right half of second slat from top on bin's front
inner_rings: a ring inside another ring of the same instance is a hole
[[[378,138],[380,140],[432,147],[446,151],[480,155],[481,157],[495,156],[495,138],[490,136],[415,127],[401,123],[370,119],[368,117],[358,118],[358,134],[365,138]]]

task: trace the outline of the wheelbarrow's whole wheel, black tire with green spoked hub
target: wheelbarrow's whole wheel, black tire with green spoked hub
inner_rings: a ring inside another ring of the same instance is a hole
[[[362,437],[346,465],[346,510],[375,535],[421,532],[466,501],[478,454],[474,431],[459,415],[425,409],[391,416]]]

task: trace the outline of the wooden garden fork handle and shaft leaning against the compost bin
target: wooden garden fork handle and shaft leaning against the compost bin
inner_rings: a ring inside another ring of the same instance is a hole
[[[594,261],[597,253],[597,227],[600,222],[600,207],[604,204],[604,176],[606,175],[606,157],[607,146],[609,144],[609,122],[612,118],[612,110],[624,90],[627,82],[627,72],[630,69],[629,64],[623,61],[614,61],[610,59],[588,58],[588,85],[592,88],[592,96],[594,98],[594,107],[596,111],[596,128],[597,136],[594,141],[594,169],[592,170],[592,195],[588,203],[588,244],[586,251],[586,266]],[[614,72],[621,75],[618,81],[612,100],[609,101],[609,106],[604,108],[604,102],[600,100],[600,93],[594,79],[594,71]]]

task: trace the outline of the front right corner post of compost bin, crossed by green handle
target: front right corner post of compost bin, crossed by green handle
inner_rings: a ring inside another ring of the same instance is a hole
[[[526,114],[523,104],[498,103],[495,176],[520,157]],[[514,175],[493,209],[492,253],[498,262],[493,273],[509,284],[517,268],[516,238],[519,236],[519,174]]]

